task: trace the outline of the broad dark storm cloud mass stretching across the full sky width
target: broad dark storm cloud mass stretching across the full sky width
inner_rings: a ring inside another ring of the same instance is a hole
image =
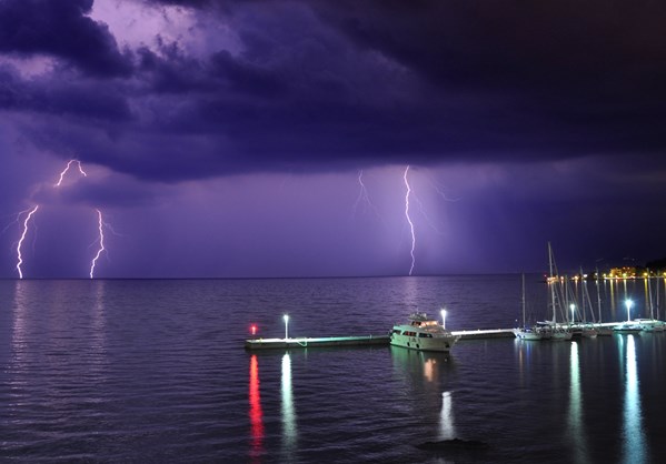
[[[36,128],[43,147],[167,181],[665,148],[660,4],[138,2],[219,21],[238,48],[195,54],[158,33],[121,53],[121,38],[86,16],[91,1],[0,7],[0,52],[88,73],[56,78],[54,94],[0,74],[6,110],[61,114],[57,130]],[[113,123],[79,125],[87,111]]]

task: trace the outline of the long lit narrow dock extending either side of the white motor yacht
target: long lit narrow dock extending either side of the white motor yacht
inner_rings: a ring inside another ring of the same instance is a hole
[[[493,329],[476,331],[454,331],[454,335],[460,335],[463,340],[479,339],[514,339],[516,335],[511,329]],[[295,339],[250,339],[245,341],[247,350],[270,349],[305,349],[325,346],[371,346],[388,345],[388,335],[361,335],[361,336],[322,336],[322,337],[295,337]]]

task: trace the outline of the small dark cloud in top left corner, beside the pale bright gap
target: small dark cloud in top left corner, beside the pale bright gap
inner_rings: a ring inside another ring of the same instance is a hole
[[[86,17],[93,0],[4,0],[0,52],[43,53],[96,77],[129,75],[130,62],[105,24]]]

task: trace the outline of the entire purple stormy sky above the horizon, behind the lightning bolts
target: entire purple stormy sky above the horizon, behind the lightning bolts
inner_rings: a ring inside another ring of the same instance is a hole
[[[666,4],[0,0],[0,278],[666,256]],[[56,188],[71,159],[76,169]],[[361,191],[360,181],[366,186]],[[19,219],[18,221],[17,218]]]

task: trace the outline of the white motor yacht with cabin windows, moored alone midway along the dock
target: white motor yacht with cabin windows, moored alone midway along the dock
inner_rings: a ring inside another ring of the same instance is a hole
[[[447,331],[437,321],[428,319],[426,313],[409,315],[407,324],[396,324],[390,332],[390,344],[419,351],[439,351],[448,353],[460,339]]]

